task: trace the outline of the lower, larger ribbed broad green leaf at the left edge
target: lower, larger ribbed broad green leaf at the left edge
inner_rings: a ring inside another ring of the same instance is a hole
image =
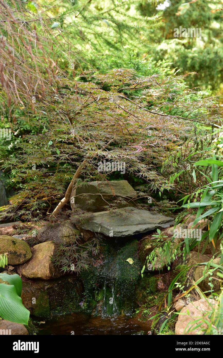
[[[14,285],[0,284],[0,316],[11,322],[28,324],[29,311],[23,306]]]

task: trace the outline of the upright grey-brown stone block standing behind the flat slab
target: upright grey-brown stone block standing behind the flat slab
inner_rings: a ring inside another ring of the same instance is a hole
[[[84,211],[98,212],[105,209],[106,206],[116,203],[117,208],[129,207],[134,205],[131,200],[137,197],[135,190],[127,180],[113,180],[111,182],[90,182],[72,192],[74,203],[71,200],[71,207],[77,207]]]

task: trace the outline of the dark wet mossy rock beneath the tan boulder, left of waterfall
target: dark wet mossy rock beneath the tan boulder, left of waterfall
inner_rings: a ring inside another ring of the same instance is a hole
[[[36,317],[66,314],[81,310],[82,286],[73,276],[48,281],[23,282],[23,305]]]

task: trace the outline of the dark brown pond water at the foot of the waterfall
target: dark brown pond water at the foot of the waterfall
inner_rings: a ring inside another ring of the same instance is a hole
[[[85,314],[69,314],[55,316],[45,323],[38,324],[39,335],[131,335],[147,334],[148,324],[131,319],[130,317],[102,318]]]

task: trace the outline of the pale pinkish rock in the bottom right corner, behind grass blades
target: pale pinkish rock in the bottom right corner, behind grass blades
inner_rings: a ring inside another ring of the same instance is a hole
[[[217,308],[217,305],[217,301],[213,299],[204,298],[189,303],[189,305],[185,306],[180,311],[175,326],[175,334],[204,334],[208,327],[207,323],[205,323],[205,319],[207,319],[207,313],[209,314],[210,312],[212,312],[214,308]],[[198,327],[195,328],[196,326]],[[192,330],[193,328],[195,329]]]

